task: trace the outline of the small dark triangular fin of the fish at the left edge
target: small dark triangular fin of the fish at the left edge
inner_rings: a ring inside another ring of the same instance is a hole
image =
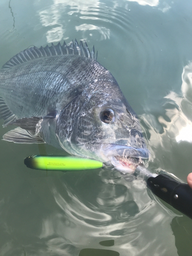
[[[9,109],[4,98],[0,96],[0,119],[4,119],[3,127],[17,119],[17,116]]]

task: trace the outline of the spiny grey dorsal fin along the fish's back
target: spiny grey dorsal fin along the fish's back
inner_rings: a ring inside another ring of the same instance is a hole
[[[72,40],[68,45],[66,42],[63,42],[63,45],[61,46],[60,42],[58,42],[57,45],[51,44],[51,46],[46,47],[31,47],[28,48],[22,52],[19,52],[15,56],[13,56],[9,61],[5,63],[5,65],[2,67],[2,69],[9,69],[13,66],[25,63],[32,59],[47,57],[47,56],[55,56],[55,55],[65,55],[65,54],[75,54],[80,55],[83,57],[87,57],[93,60],[97,60],[97,53],[95,56],[95,49],[93,46],[92,51],[90,52],[89,47],[84,41],[84,44],[82,40],[80,40],[80,44],[78,44],[77,40],[75,39],[75,42]]]

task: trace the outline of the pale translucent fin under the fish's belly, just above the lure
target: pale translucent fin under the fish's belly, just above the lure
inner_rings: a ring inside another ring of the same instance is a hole
[[[14,130],[11,130],[4,134],[3,139],[7,141],[12,141],[14,143],[22,144],[45,143],[44,139],[42,139],[38,135],[32,135],[30,132],[20,127],[17,127]]]

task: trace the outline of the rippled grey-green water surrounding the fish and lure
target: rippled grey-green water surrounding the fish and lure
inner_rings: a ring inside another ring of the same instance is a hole
[[[191,10],[190,0],[1,0],[0,65],[32,45],[86,39],[145,127],[150,168],[186,181]],[[10,129],[1,127],[0,137]],[[104,169],[35,171],[25,157],[61,152],[6,141],[0,148],[1,256],[192,255],[192,220],[153,197],[142,179]]]

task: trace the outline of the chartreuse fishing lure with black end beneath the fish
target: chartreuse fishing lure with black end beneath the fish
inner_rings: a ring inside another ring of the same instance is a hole
[[[91,170],[103,167],[103,163],[94,159],[73,156],[30,156],[24,163],[31,169],[40,170]]]

